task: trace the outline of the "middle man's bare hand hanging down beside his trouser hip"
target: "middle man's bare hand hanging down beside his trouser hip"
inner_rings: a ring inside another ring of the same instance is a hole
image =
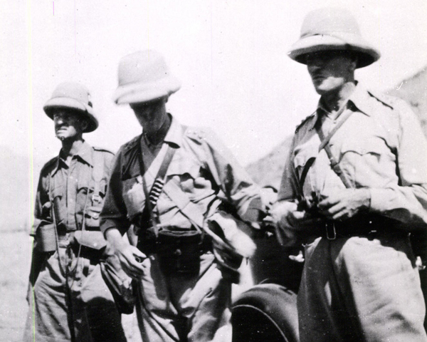
[[[108,229],[105,237],[110,242],[123,271],[132,279],[138,280],[141,278],[144,275],[144,267],[141,263],[147,256],[139,251],[137,247],[127,244],[122,239],[122,234],[115,228]]]

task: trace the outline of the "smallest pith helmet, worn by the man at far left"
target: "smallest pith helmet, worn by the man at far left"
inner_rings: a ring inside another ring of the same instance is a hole
[[[57,108],[69,108],[88,119],[88,127],[84,133],[93,132],[99,123],[93,113],[93,105],[90,102],[89,90],[79,83],[64,82],[53,90],[52,97],[46,102],[43,110],[49,118],[53,119],[53,114]]]

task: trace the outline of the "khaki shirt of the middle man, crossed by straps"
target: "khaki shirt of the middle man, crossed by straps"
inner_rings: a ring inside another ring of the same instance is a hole
[[[251,220],[249,212],[260,211],[260,188],[210,130],[184,128],[172,117],[161,150],[156,158],[142,135],[120,147],[115,157],[107,197],[101,213],[101,230],[117,228],[124,234],[132,219],[145,207],[142,175],[139,167],[138,144],[141,144],[144,165],[148,167],[144,179],[149,192],[166,154],[167,146],[176,149],[169,164],[165,182],[174,181],[191,202],[206,214],[209,206],[223,197],[237,213]],[[162,225],[191,228],[191,222],[179,211],[164,192],[159,195],[154,212]]]

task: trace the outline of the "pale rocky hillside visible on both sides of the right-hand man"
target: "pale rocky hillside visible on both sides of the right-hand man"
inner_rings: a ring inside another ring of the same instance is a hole
[[[389,90],[387,93],[403,98],[412,105],[427,137],[427,66],[416,75],[396,85],[394,89]],[[246,167],[255,182],[258,182],[261,186],[272,185],[276,188],[280,186],[280,178],[291,139],[292,137],[286,138],[268,155]]]

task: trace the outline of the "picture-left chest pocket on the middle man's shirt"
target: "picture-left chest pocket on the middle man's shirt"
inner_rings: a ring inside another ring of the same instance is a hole
[[[127,217],[132,219],[142,213],[145,207],[145,195],[140,175],[122,181],[122,196],[127,209]]]

